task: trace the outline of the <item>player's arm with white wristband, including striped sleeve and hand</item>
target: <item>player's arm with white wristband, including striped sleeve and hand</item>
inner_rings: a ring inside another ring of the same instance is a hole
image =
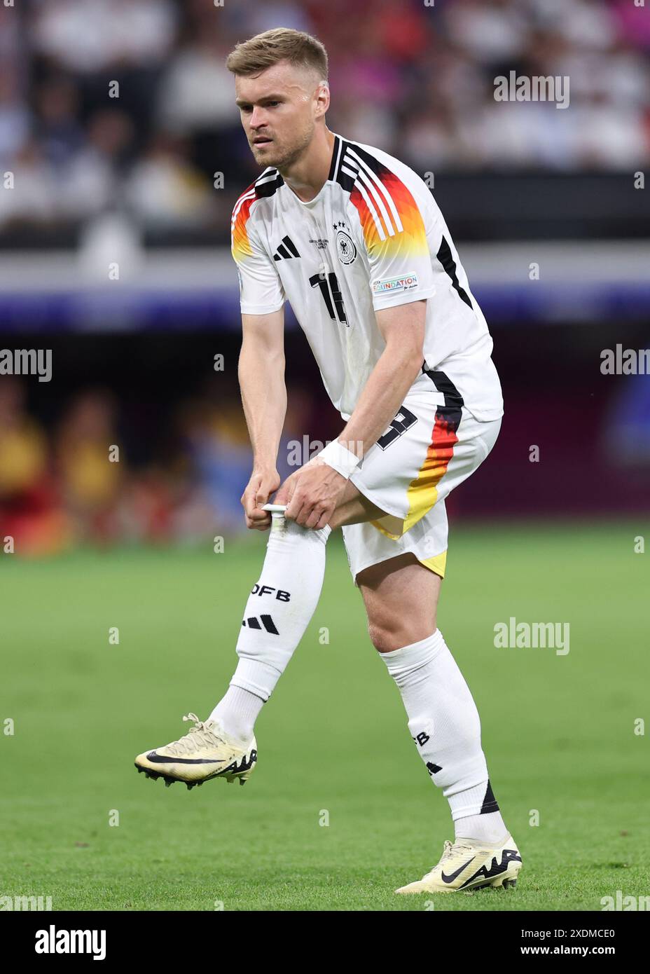
[[[363,163],[363,153],[361,157]],[[291,498],[287,516],[309,528],[328,523],[354,457],[361,459],[377,442],[415,382],[424,360],[426,302],[436,290],[427,235],[427,226],[432,229],[428,190],[409,170],[398,175],[372,157],[363,165],[372,167],[372,179],[360,176],[355,182],[348,215],[350,223],[356,221],[358,244],[365,251],[385,347],[338,443],[328,444],[322,456],[292,474],[289,480],[297,481],[293,493],[293,483],[283,484],[278,492]]]

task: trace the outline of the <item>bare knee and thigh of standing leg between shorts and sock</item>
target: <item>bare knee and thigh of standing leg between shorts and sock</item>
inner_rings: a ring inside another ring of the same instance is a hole
[[[379,653],[426,639],[436,629],[442,579],[411,552],[363,569],[356,577]]]

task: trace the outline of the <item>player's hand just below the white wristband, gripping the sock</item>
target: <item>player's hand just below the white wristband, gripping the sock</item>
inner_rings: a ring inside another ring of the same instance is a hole
[[[341,473],[314,457],[305,467],[287,477],[273,504],[286,504],[284,516],[304,528],[324,528],[346,483]]]

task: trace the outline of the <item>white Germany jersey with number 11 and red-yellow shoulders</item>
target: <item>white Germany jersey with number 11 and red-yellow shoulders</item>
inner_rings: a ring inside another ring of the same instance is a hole
[[[309,203],[265,169],[235,204],[232,251],[242,313],[289,301],[344,420],[385,347],[375,312],[422,298],[414,390],[441,405],[452,392],[479,421],[503,415],[486,319],[429,188],[398,159],[335,135],[328,179]]]

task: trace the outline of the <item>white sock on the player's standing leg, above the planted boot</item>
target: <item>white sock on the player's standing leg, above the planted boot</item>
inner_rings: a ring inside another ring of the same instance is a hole
[[[431,780],[450,803],[456,838],[502,838],[507,830],[489,786],[479,712],[440,629],[379,656],[402,694]]]

